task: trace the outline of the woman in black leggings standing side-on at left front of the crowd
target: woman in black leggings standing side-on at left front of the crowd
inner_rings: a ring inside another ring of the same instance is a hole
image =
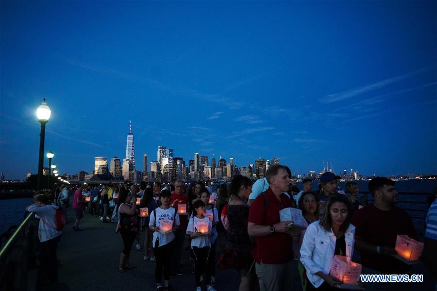
[[[122,273],[126,269],[134,268],[134,266],[129,264],[129,256],[137,230],[136,198],[132,197],[132,194],[124,187],[120,189],[117,210],[119,214],[117,232],[120,232],[124,244],[118,264],[118,272]]]

